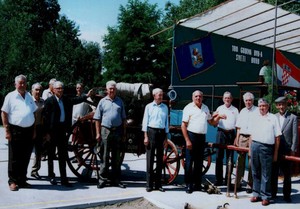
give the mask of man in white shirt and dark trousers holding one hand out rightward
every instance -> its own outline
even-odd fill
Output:
[[[194,91],[192,99],[193,102],[187,104],[183,109],[181,124],[186,142],[185,183],[188,194],[202,189],[202,165],[207,123],[216,125],[220,119],[217,114],[211,116],[208,107],[202,103],[203,93],[201,91]]]

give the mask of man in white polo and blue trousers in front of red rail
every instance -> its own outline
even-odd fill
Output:
[[[281,129],[278,119],[269,113],[266,99],[258,100],[259,114],[254,114],[250,122],[251,167],[253,177],[253,196],[251,202],[262,201],[270,204],[272,163],[277,161]]]

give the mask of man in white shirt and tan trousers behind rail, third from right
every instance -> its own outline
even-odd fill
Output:
[[[254,105],[254,95],[250,92],[246,92],[243,95],[243,100],[245,103],[245,107],[241,110],[240,114],[238,115],[236,121],[236,138],[234,141],[234,145],[237,147],[244,147],[249,148],[250,146],[250,118],[252,114],[258,114],[258,108]],[[242,178],[244,177],[245,173],[245,164],[246,164],[246,155],[245,152],[238,152],[237,157],[237,176],[236,180],[236,187],[240,187],[240,183]],[[248,183],[246,192],[252,192],[252,172],[251,172],[251,163],[250,157],[248,155]]]

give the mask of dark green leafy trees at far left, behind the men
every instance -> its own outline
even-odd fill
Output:
[[[75,22],[59,11],[57,0],[0,1],[1,97],[14,88],[18,74],[27,76],[29,86],[46,87],[53,77],[72,87],[99,80],[99,45],[81,42]]]

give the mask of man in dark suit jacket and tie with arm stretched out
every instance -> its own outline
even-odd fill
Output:
[[[53,160],[57,147],[61,185],[70,187],[71,184],[66,174],[68,145],[66,132],[71,127],[73,105],[86,101],[91,91],[81,97],[68,98],[63,95],[64,84],[60,81],[56,81],[53,84],[53,91],[54,95],[46,99],[44,106],[46,140],[50,142],[48,150],[48,176],[50,183],[56,185],[57,182],[53,172]]]

